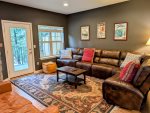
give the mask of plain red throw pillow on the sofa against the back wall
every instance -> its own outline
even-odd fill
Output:
[[[95,49],[89,49],[85,48],[82,61],[83,62],[93,62],[93,57],[94,57]]]

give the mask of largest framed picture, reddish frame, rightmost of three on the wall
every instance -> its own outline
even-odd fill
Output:
[[[114,40],[127,40],[127,30],[128,30],[128,23],[115,23],[115,36]]]

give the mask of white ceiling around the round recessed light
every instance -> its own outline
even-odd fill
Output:
[[[116,4],[128,0],[0,0],[23,6],[53,11],[62,14],[72,14],[89,9]],[[64,7],[63,3],[68,2],[69,6]]]

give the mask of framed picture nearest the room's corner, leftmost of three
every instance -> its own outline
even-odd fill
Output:
[[[81,26],[81,40],[90,40],[90,26]]]

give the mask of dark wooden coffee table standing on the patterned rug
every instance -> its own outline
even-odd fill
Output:
[[[77,85],[79,83],[78,81],[78,76],[82,75],[84,76],[83,79],[80,78],[80,81],[84,81],[84,84],[86,84],[86,75],[85,72],[87,72],[84,69],[79,69],[75,67],[70,67],[70,66],[64,66],[57,68],[57,82],[59,81],[59,72],[65,73],[66,74],[66,81],[68,81],[68,75],[72,75],[75,77],[74,84],[75,84],[75,89],[77,88]]]

